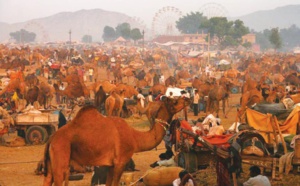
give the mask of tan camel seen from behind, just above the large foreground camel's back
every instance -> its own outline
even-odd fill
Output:
[[[120,94],[118,94],[115,90],[113,90],[105,100],[105,110],[107,112],[107,116],[118,116],[120,117],[122,107],[124,104],[124,94],[125,90],[122,90]]]

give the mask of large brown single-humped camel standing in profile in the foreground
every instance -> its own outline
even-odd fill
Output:
[[[45,147],[44,186],[53,182],[61,186],[64,180],[68,185],[71,160],[80,165],[109,166],[106,185],[118,186],[125,165],[133,154],[160,144],[173,115],[189,104],[190,100],[186,98],[167,98],[161,102],[154,127],[147,132],[131,128],[122,118],[104,117],[93,106],[83,107]]]

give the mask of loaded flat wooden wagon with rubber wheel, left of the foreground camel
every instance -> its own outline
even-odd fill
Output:
[[[44,144],[58,129],[58,111],[43,110],[18,114],[15,128],[18,136],[25,138],[27,144]]]

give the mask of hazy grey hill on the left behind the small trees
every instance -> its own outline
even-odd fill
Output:
[[[139,27],[133,18],[125,14],[102,9],[61,12],[22,23],[0,23],[0,42],[9,40],[9,33],[20,29],[36,33],[37,41],[69,41],[70,30],[72,41],[81,41],[84,35],[92,35],[93,41],[101,41],[105,26],[115,28],[124,22]]]

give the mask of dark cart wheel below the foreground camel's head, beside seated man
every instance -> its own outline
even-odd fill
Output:
[[[178,154],[178,166],[190,173],[196,172],[198,170],[197,154],[195,152],[180,152]]]

